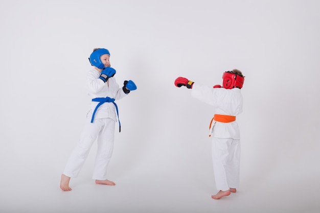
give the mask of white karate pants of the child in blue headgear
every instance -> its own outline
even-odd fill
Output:
[[[87,116],[80,140],[67,161],[63,174],[75,178],[78,176],[90,148],[98,142],[98,149],[93,173],[93,179],[106,180],[107,167],[113,151],[115,139],[115,121],[112,119],[95,119],[90,123],[91,116]]]

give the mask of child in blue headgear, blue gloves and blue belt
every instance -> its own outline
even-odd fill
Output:
[[[61,175],[62,191],[71,191],[70,178],[78,176],[96,138],[98,138],[98,150],[93,179],[97,184],[115,185],[113,181],[107,179],[107,166],[112,155],[117,116],[119,131],[121,128],[115,101],[127,96],[130,90],[135,90],[136,85],[129,80],[124,81],[123,87],[119,87],[113,77],[116,70],[110,67],[109,57],[107,49],[94,49],[89,57],[94,68],[87,74],[86,87],[92,102],[80,140]]]

